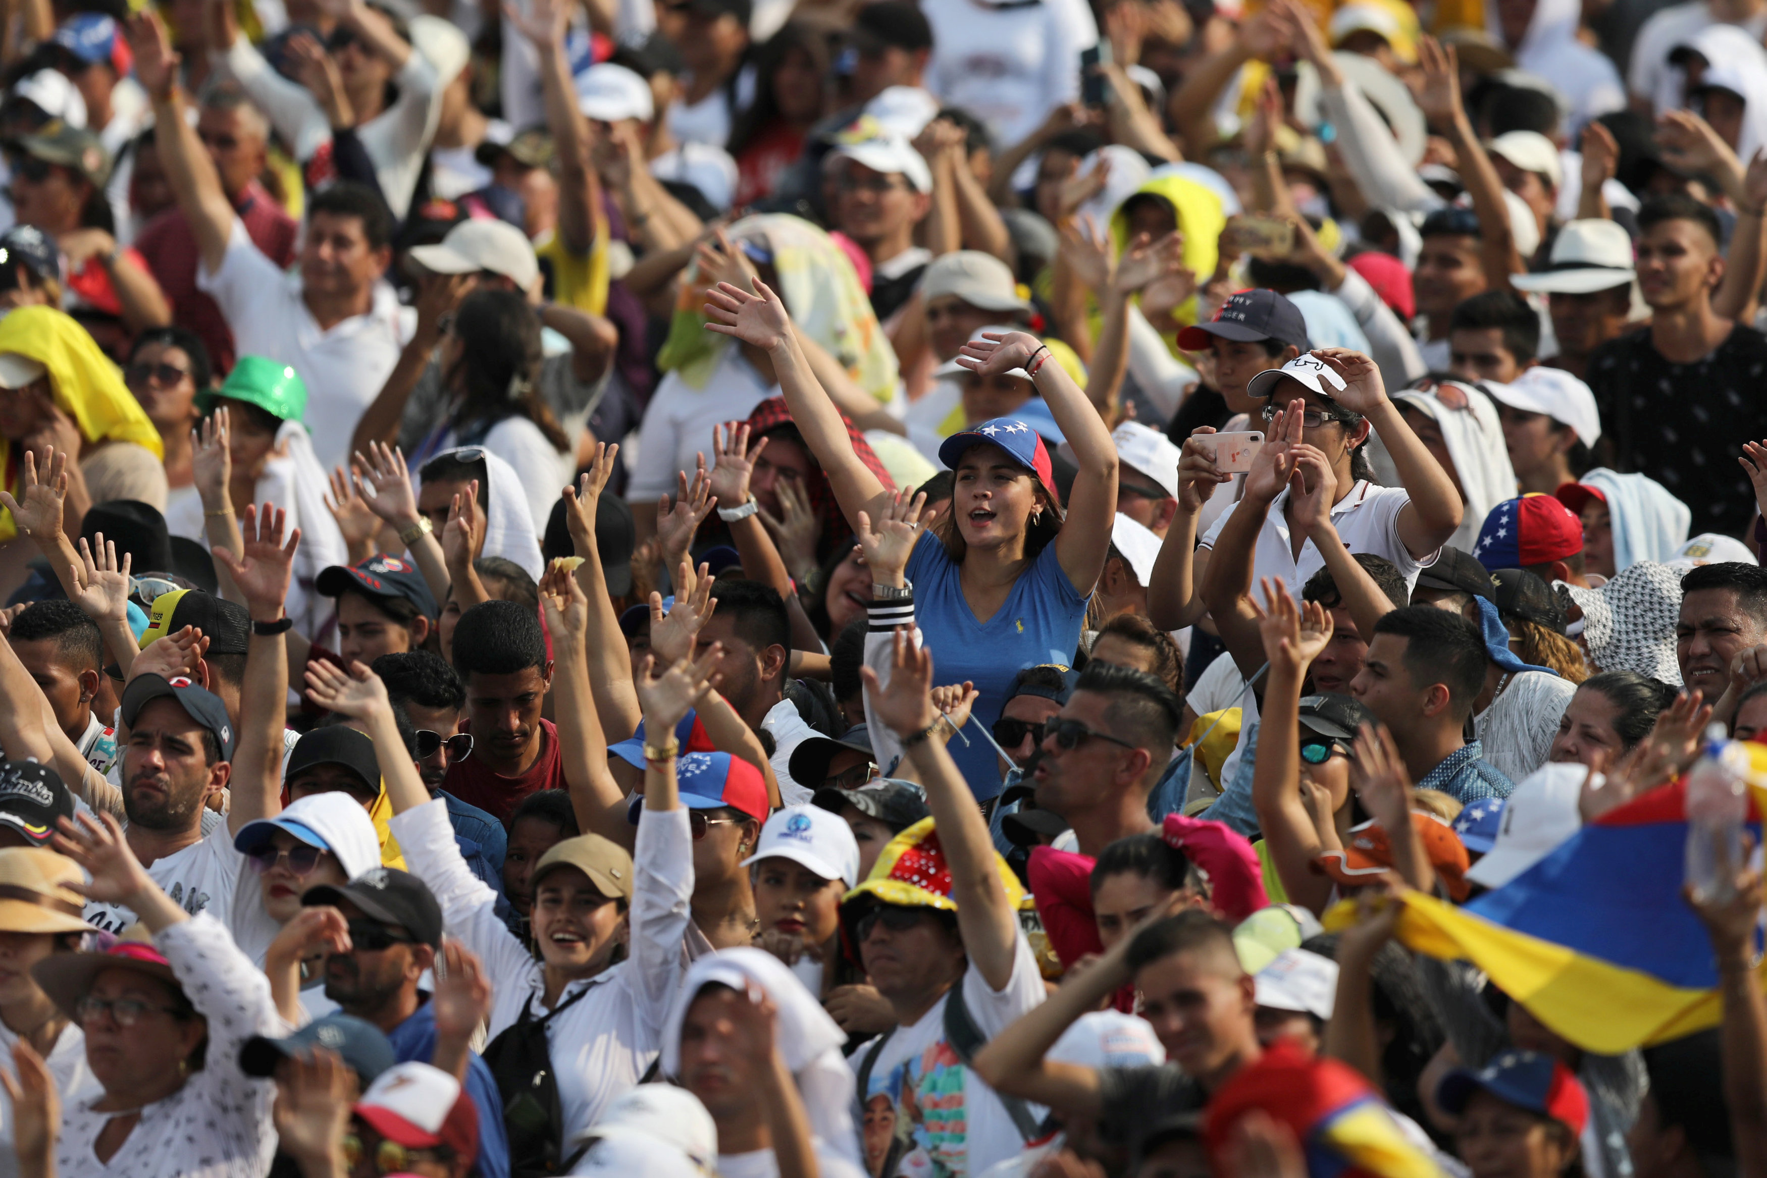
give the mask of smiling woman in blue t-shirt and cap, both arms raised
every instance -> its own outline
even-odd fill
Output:
[[[797,348],[785,304],[763,283],[755,286],[756,295],[728,283],[710,291],[707,330],[767,350],[799,433],[846,521],[861,530],[861,512],[882,519],[892,495],[853,454],[839,412]],[[914,546],[906,579],[915,622],[938,652],[940,676],[972,682],[981,692],[974,715],[991,728],[1020,668],[1073,662],[1087,600],[1110,551],[1117,449],[1087,394],[1060,364],[1048,362],[1050,350],[1035,336],[984,332],[984,339],[963,344],[958,360],[975,373],[1032,381],[1080,464],[1064,510],[1050,452],[1021,420],[982,422],[938,449],[940,461],[956,472],[956,486],[933,533]],[[1000,793],[1000,765],[981,733],[965,731],[951,751],[979,800]]]

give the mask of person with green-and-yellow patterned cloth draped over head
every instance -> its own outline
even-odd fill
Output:
[[[827,233],[800,217],[767,214],[737,221],[726,237],[733,253],[785,302],[800,339],[832,357],[852,385],[878,406],[896,396],[896,353],[859,286],[853,263]],[[712,427],[747,417],[762,401],[779,396],[772,360],[763,350],[705,330],[701,307],[716,281],[700,263],[687,270],[668,341],[657,355],[664,376],[645,408],[640,431],[645,445],[626,489],[640,535],[647,532],[657,498],[675,493],[675,473],[694,470]],[[739,507],[719,503],[724,510]]]

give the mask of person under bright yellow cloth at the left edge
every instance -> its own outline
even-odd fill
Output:
[[[76,532],[92,503],[136,500],[166,510],[166,447],[117,366],[92,336],[55,307],[18,307],[0,320],[0,487],[23,495],[25,452],[46,470],[49,447],[69,449],[78,433],[78,463],[67,468],[67,530]],[[0,509],[0,542],[18,535],[12,512]]]

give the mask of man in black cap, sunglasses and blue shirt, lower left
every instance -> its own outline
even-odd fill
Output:
[[[325,996],[345,1014],[378,1026],[399,1063],[429,1063],[436,1049],[436,1016],[429,993],[417,987],[442,957],[442,906],[429,887],[406,871],[375,867],[341,888],[307,888],[300,904],[327,910],[322,917],[327,925],[343,924],[350,933],[350,948],[334,947],[325,957]],[[504,1102],[497,1077],[477,1051],[466,1053],[461,1086],[479,1109],[474,1173],[509,1178]]]

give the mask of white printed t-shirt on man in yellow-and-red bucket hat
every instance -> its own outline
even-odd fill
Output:
[[[965,971],[961,985],[963,1003],[986,1038],[1044,1000],[1043,977],[1023,933],[1012,957],[1012,977],[1000,993],[990,989],[977,970]],[[899,1160],[891,1173],[903,1178],[935,1173],[968,1178],[1025,1148],[1000,1097],[959,1063],[945,1042],[949,998],[945,994],[933,1003],[914,1026],[898,1026],[891,1033],[871,1065],[866,1091],[859,1093],[866,1120],[894,1118],[898,1144],[892,1152]],[[848,1056],[855,1074],[871,1047],[866,1044]],[[1043,1120],[1041,1107],[1032,1106],[1030,1113]]]

